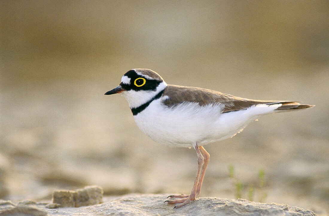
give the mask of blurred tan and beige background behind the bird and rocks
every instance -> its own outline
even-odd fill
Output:
[[[240,182],[244,199],[252,186],[254,201],[328,214],[328,8],[1,1],[0,199],[51,199],[54,189],[94,184],[106,195],[190,193],[195,151],[153,142],[125,98],[104,95],[126,71],[149,68],[168,84],[316,105],[265,116],[206,146],[201,196],[236,198]]]

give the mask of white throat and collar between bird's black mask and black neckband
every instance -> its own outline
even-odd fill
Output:
[[[130,108],[136,108],[136,107],[139,107],[140,105],[148,102],[151,98],[153,98],[159,92],[164,90],[166,87],[167,87],[167,84],[165,82],[162,82],[159,84],[159,86],[157,87],[157,89],[155,91],[129,90],[129,91],[123,91],[122,95],[127,99]]]

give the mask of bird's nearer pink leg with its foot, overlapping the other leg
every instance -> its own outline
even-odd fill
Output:
[[[194,185],[193,185],[191,194],[189,196],[187,196],[187,197],[184,196],[183,199],[179,199],[179,200],[166,200],[166,201],[164,201],[164,202],[168,202],[169,204],[172,204],[172,203],[180,203],[179,205],[176,205],[174,208],[179,208],[179,207],[181,207],[181,206],[189,203],[191,200],[195,200],[195,198],[196,198],[196,190],[198,188],[198,183],[199,183],[199,178],[200,178],[201,170],[202,170],[203,163],[204,163],[204,158],[203,158],[203,156],[201,154],[200,148],[198,148],[196,146],[195,147],[195,150],[196,150],[196,155],[198,157],[198,171],[196,172],[196,175],[195,175]],[[173,197],[173,196],[171,196],[171,197]]]

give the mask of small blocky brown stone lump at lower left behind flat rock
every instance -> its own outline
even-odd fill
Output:
[[[77,191],[54,191],[52,201],[61,207],[95,205],[103,203],[103,189],[98,186],[87,186]]]

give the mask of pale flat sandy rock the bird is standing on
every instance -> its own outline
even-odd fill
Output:
[[[36,203],[39,210],[49,215],[290,215],[315,216],[313,211],[277,203],[257,203],[247,200],[229,200],[215,197],[198,198],[174,209],[174,204],[164,203],[168,195],[130,194],[121,197],[104,197],[105,203],[79,208],[46,208]],[[11,204],[8,206],[12,207]],[[1,210],[5,207],[0,205]]]

